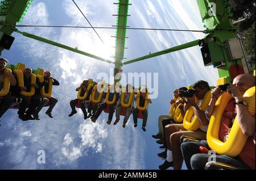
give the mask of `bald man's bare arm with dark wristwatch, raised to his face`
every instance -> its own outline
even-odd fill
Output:
[[[233,98],[236,99],[236,102],[243,101],[243,97],[235,85],[230,84],[227,88],[227,91],[233,96]],[[242,104],[237,104],[236,108],[237,121],[240,125],[240,128],[242,129],[243,134],[246,136],[253,136],[255,133],[255,114],[252,116],[249,113],[247,106],[243,106]]]

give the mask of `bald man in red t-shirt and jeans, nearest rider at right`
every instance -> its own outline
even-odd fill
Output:
[[[233,84],[230,84],[226,89],[226,91],[233,96],[233,99],[229,101],[228,106],[226,106],[224,110],[224,115],[222,116],[219,132],[220,140],[225,142],[229,135],[229,128],[236,116],[243,134],[248,136],[248,139],[237,157],[232,158],[227,155],[216,155],[217,162],[243,167],[245,169],[255,169],[255,144],[253,141],[255,136],[255,115],[250,115],[246,103],[243,100],[245,91],[254,86],[254,75],[242,74],[234,78]],[[216,103],[223,92],[224,91],[221,91],[218,87],[214,89],[210,103]],[[210,112],[213,112],[213,109],[210,110]],[[233,120],[230,119],[230,117],[233,117]],[[210,155],[200,153],[199,146],[204,146],[210,150],[207,141],[185,142],[181,144],[182,154],[189,170],[203,170],[205,164],[208,162]]]

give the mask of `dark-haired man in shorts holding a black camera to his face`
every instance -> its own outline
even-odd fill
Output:
[[[167,141],[167,150],[161,155],[164,155],[162,158],[166,157],[166,161],[163,165],[159,166],[159,169],[165,170],[168,167],[173,166],[175,170],[180,170],[183,163],[183,156],[180,149],[180,137],[182,135],[199,138],[203,140],[206,138],[206,132],[209,124],[209,120],[205,115],[204,111],[200,110],[200,104],[203,101],[204,95],[210,90],[208,82],[197,81],[192,86],[193,90],[188,90],[181,93],[181,95],[186,96],[185,102],[192,106],[194,110],[194,116],[197,116],[197,119],[201,122],[201,125],[197,131],[186,131],[183,127],[183,124],[170,124],[165,127],[165,136]],[[199,100],[198,103],[195,102],[195,96]]]

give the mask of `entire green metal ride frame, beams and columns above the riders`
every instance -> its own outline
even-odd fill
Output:
[[[0,6],[0,38],[3,33],[11,35],[14,31],[22,34],[23,36],[30,37],[35,40],[42,41],[51,45],[55,45],[60,48],[71,50],[76,53],[84,54],[97,60],[108,62],[109,64],[115,64],[116,69],[121,69],[123,65],[131,64],[133,62],[146,60],[148,58],[160,56],[162,54],[175,52],[177,50],[197,46],[200,40],[191,41],[182,45],[178,45],[173,48],[166,50],[161,50],[156,53],[147,54],[134,60],[122,62],[125,54],[125,39],[126,39],[126,27],[127,27],[127,16],[129,11],[129,0],[118,0],[118,14],[117,14],[117,31],[115,36],[115,62],[106,60],[93,54],[82,52],[76,48],[68,47],[63,44],[56,43],[51,40],[44,39],[36,35],[32,35],[27,32],[20,32],[15,28],[16,22],[20,22],[24,16],[24,12],[27,11],[28,6],[32,0],[6,0],[1,1]],[[225,62],[225,65],[218,68],[218,73],[220,77],[230,77],[229,68],[233,65],[241,65],[241,60],[229,60],[227,54],[226,41],[228,39],[233,39],[237,36],[237,27],[233,26],[230,17],[232,17],[231,8],[228,3],[229,0],[197,0],[197,5],[199,6],[201,18],[204,23],[205,37],[202,40],[205,41],[210,50],[210,55],[213,59],[213,66],[217,66],[218,63]],[[216,6],[212,6],[214,5]],[[216,7],[216,11],[214,10]],[[2,48],[0,48],[0,53]]]

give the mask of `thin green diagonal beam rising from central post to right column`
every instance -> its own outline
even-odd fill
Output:
[[[189,48],[189,47],[195,47],[195,46],[198,46],[199,41],[200,40],[191,41],[189,43],[185,43],[185,44],[182,44],[182,45],[178,45],[176,47],[165,49],[165,50],[162,50],[160,52],[155,52],[155,53],[143,56],[143,57],[135,58],[133,60],[124,62],[123,65],[131,64],[131,63],[138,62],[138,61],[142,61],[142,60],[152,58],[152,57],[157,57],[157,56],[160,56],[160,55],[166,54],[166,53],[176,52],[177,50],[181,50],[181,49],[185,49],[185,48]]]

